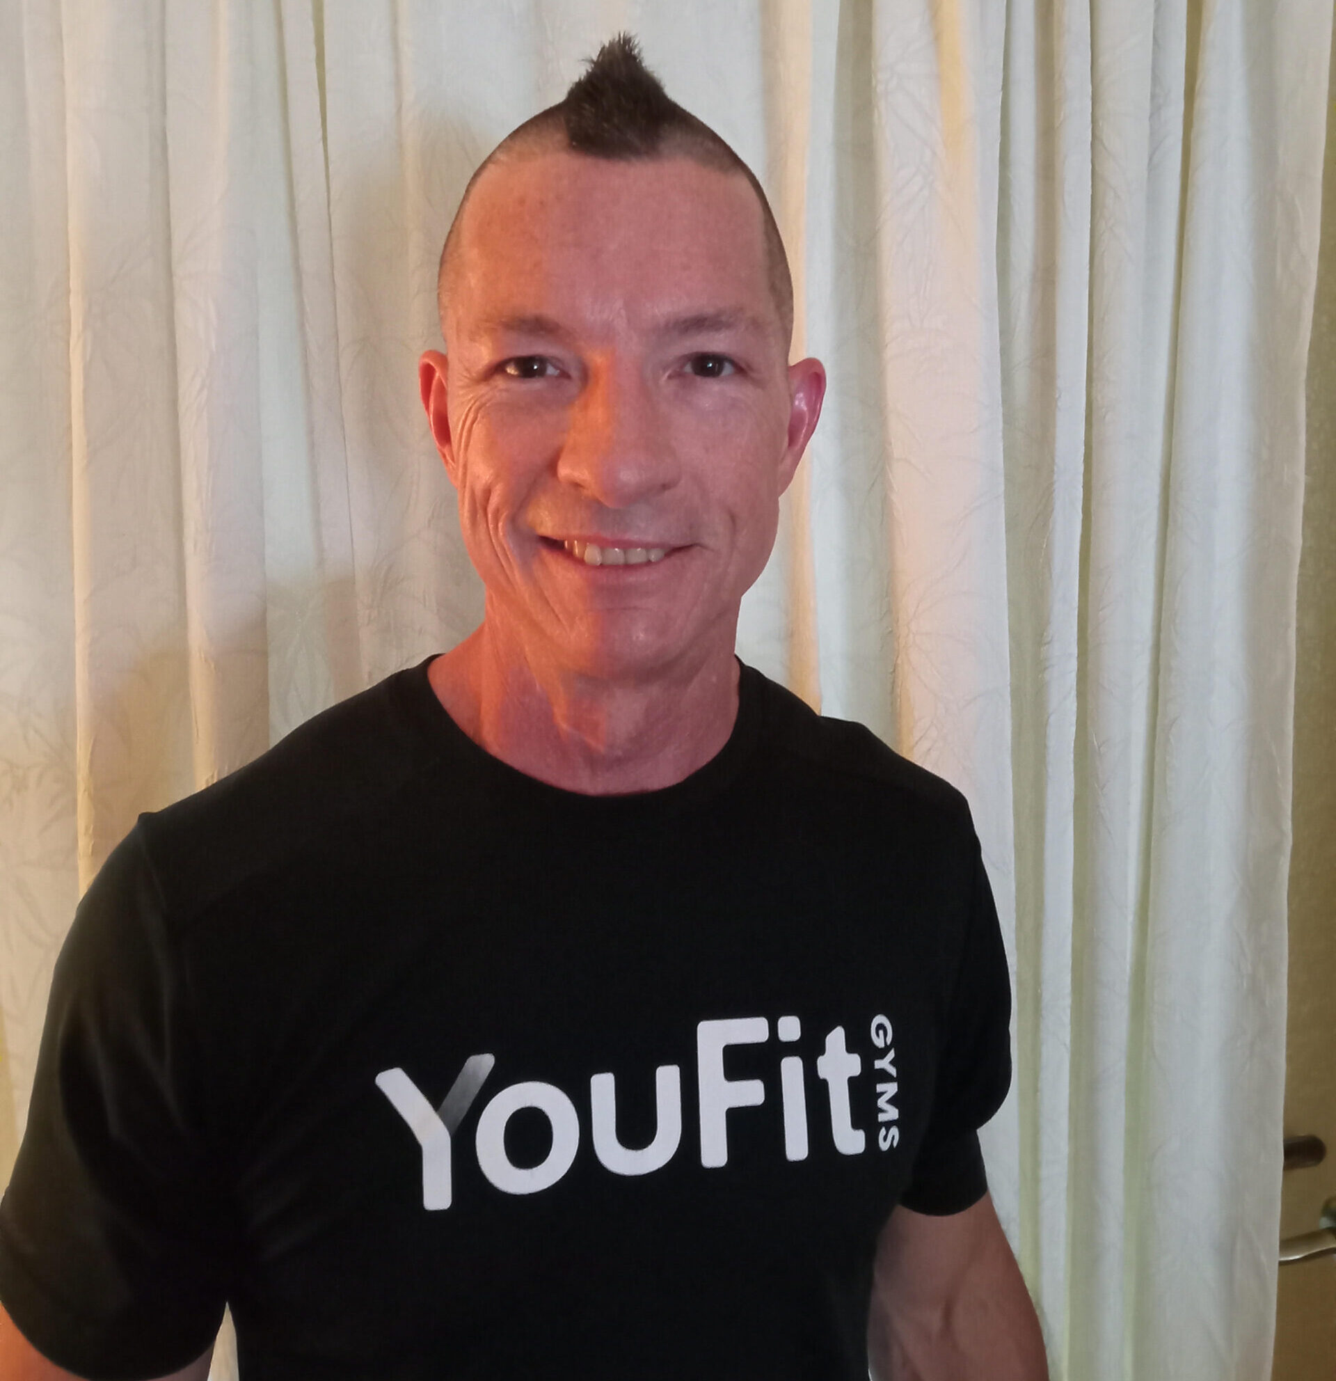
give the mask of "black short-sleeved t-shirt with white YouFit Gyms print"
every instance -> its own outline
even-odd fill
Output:
[[[562,791],[426,664],[138,824],[57,965],[0,1300],[91,1378],[857,1377],[878,1230],[984,1192],[1010,996],[963,798],[744,668]]]

